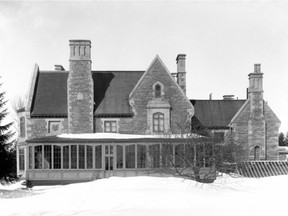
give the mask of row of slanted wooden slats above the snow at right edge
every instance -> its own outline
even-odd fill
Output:
[[[287,161],[245,161],[237,164],[238,173],[249,178],[288,175]]]

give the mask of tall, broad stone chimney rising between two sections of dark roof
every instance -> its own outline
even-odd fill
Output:
[[[93,133],[93,79],[90,40],[70,40],[67,80],[68,131]]]

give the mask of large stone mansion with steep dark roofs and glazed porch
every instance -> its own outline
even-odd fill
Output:
[[[246,99],[193,100],[185,60],[177,56],[176,73],[159,56],[146,71],[92,70],[91,42],[70,40],[69,70],[35,65],[18,110],[18,175],[39,184],[145,175],[159,166],[160,153],[147,149],[161,151],[161,134],[175,136],[177,154],[176,135],[199,128],[223,142],[233,132],[242,160],[277,160],[280,121],[263,99],[260,65],[249,74]]]

